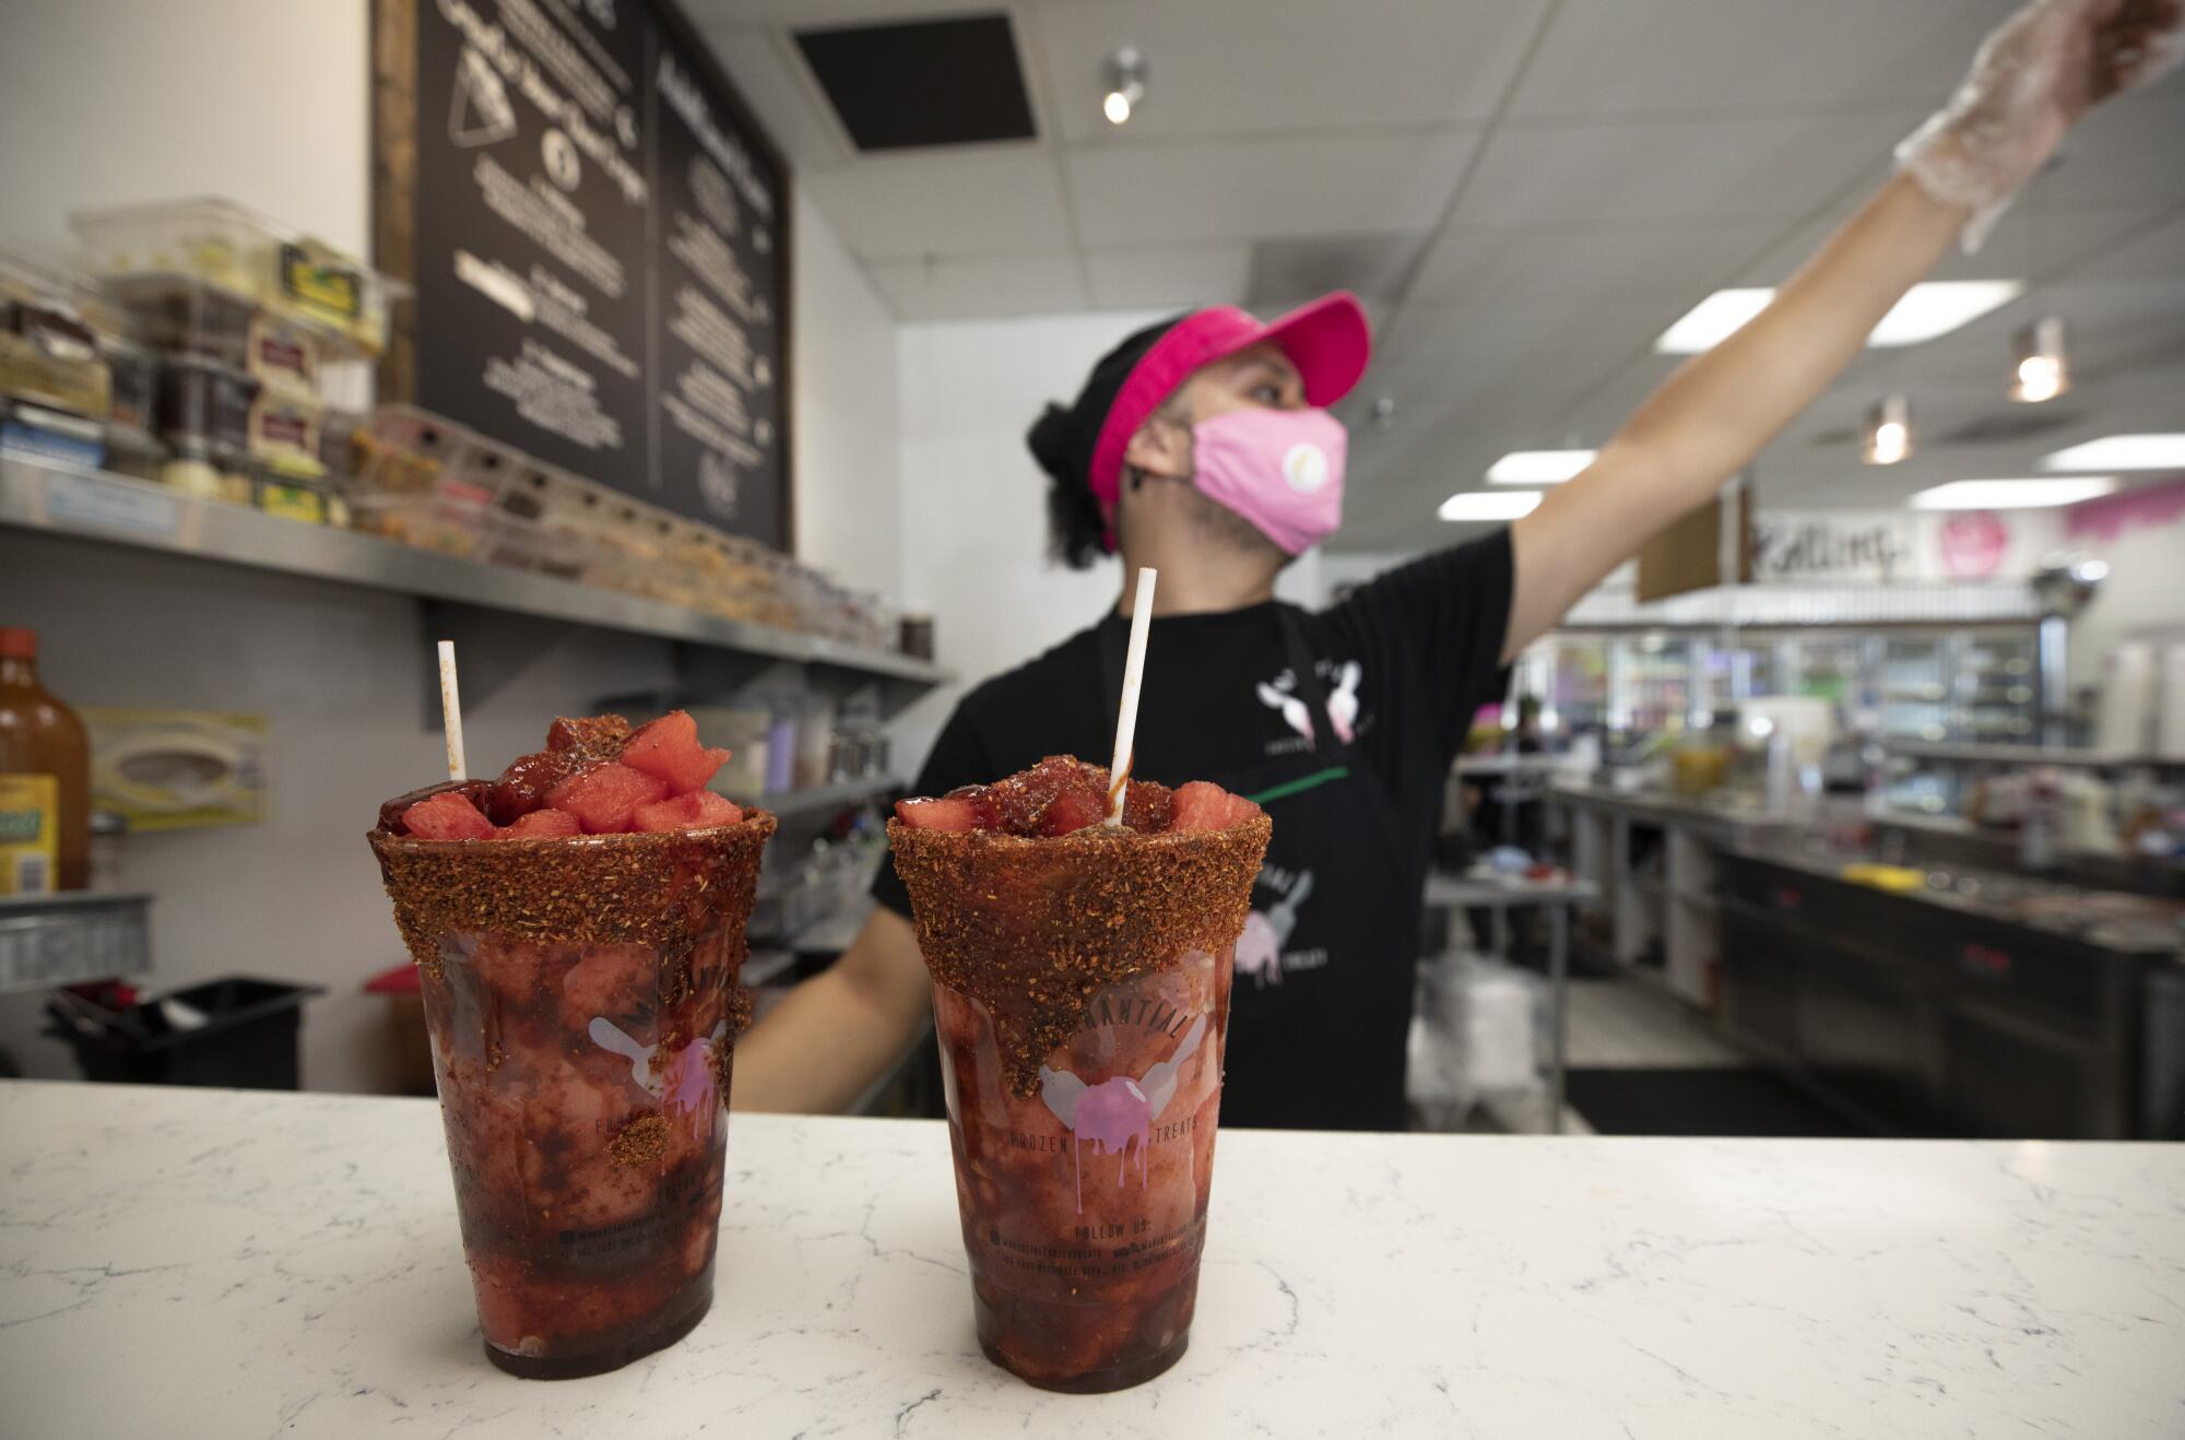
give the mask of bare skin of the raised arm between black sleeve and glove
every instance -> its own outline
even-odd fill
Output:
[[[1584,474],[1512,527],[1516,590],[1505,658],[1672,520],[1709,500],[1842,374],[1964,225],[1962,205],[1897,177],[1774,302],[1687,361]]]

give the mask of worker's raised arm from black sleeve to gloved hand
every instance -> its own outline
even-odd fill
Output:
[[[1901,173],[1765,310],[1685,363],[1593,465],[1510,527],[1503,660],[1811,404],[1951,238],[1977,243],[2093,103],[2176,59],[2178,0],[2034,0],[1991,35],[1949,107],[1899,146]]]

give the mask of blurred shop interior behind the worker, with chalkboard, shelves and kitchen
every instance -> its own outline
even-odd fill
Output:
[[[966,682],[1114,599],[1023,452],[1086,356],[1366,299],[1322,603],[1582,468],[2012,9],[601,7],[0,17],[0,710],[35,666],[90,795],[0,889],[92,885],[0,900],[0,1064],[428,1093],[363,830],[435,638],[481,767],[686,704],[782,815],[747,979],[826,966]],[[2185,85],[2095,114],[1519,660],[1418,1125],[2185,1136],[2178,135]],[[931,1103],[916,1051],[867,1097]]]

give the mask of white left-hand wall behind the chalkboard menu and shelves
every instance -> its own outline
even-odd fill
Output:
[[[365,0],[7,0],[0,9],[0,243],[68,249],[70,210],[225,194],[369,251]],[[832,227],[798,197],[800,553],[894,590],[900,546],[894,323]],[[380,1007],[358,983],[402,959],[363,843],[378,802],[441,765],[424,723],[415,601],[306,579],[0,531],[0,621],[42,632],[46,677],[85,706],[271,717],[273,817],[127,841],[157,894],[160,983],[260,972],[326,985],[304,1082],[382,1082]],[[546,721],[669,680],[658,640],[509,621],[522,669],[465,688],[479,769],[535,749]],[[0,1047],[39,1075],[35,996],[0,996]]]

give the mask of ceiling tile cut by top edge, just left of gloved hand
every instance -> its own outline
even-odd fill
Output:
[[[1567,0],[1512,116],[1940,105],[2017,0]]]

